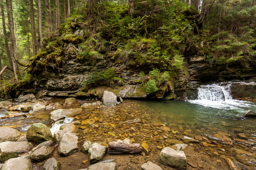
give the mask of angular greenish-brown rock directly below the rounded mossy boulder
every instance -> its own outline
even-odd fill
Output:
[[[30,159],[36,162],[47,159],[53,150],[54,148],[51,146],[42,146],[30,154]]]

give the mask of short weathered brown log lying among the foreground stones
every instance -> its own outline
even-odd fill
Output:
[[[109,142],[108,154],[139,154],[142,146],[139,143]]]

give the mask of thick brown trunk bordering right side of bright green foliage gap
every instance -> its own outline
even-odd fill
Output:
[[[36,54],[37,51],[37,46],[38,46],[38,41],[36,40],[36,29],[35,29],[35,12],[34,12],[34,5],[33,5],[33,0],[30,0],[30,20],[31,20],[31,35],[32,35],[32,41],[33,41],[33,55]]]

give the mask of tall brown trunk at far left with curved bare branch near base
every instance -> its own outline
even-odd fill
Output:
[[[16,58],[16,40],[15,40],[14,24],[13,24],[13,5],[11,0],[6,0],[6,7],[7,7],[8,25],[9,25],[10,40],[11,40],[11,59],[13,61],[14,77],[15,77],[15,80],[18,82],[20,78],[20,73],[19,73],[19,67],[18,67],[17,58]]]

